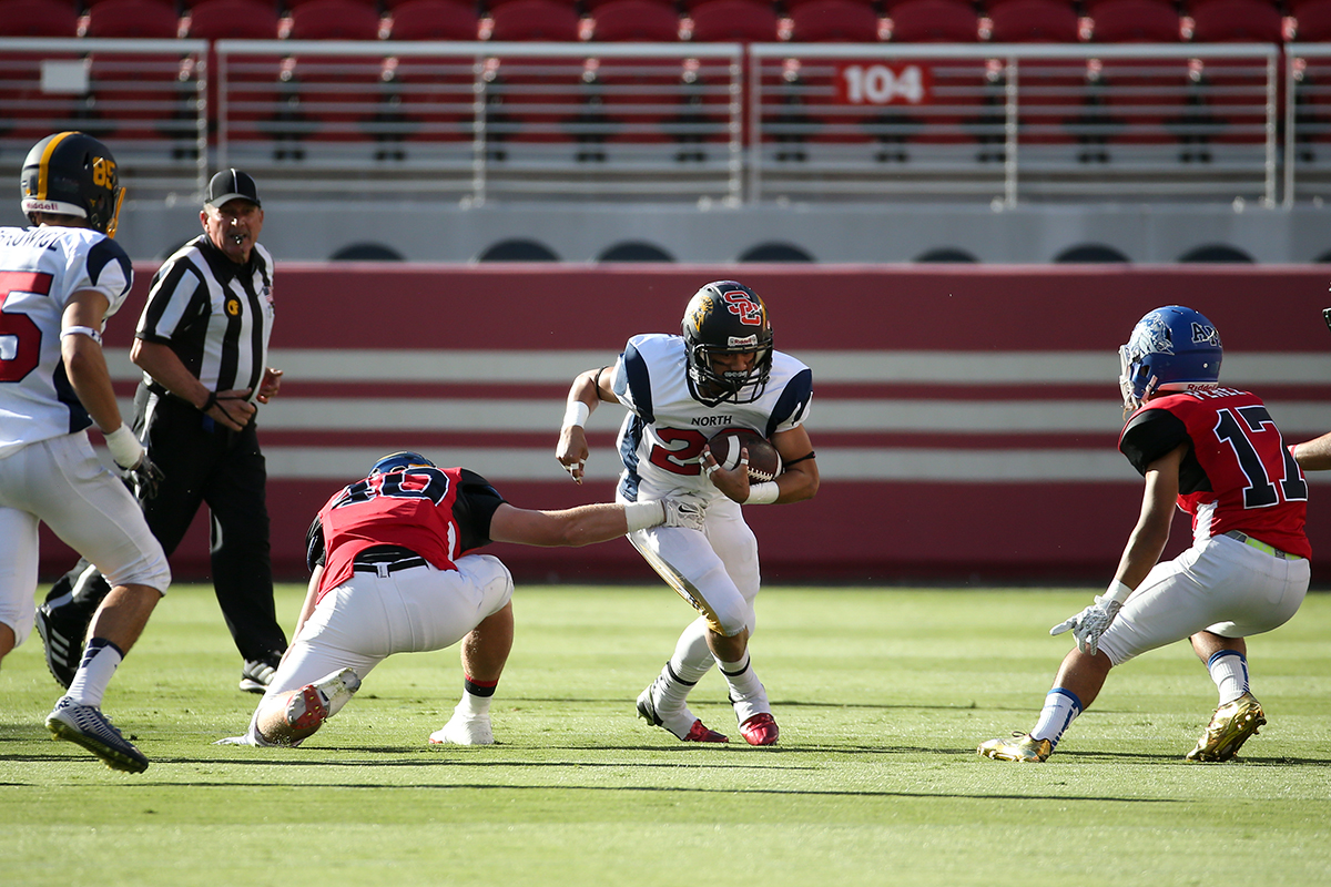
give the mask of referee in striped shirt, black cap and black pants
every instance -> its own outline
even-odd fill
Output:
[[[156,495],[140,489],[138,499],[168,556],[208,504],[213,586],[245,660],[240,689],[262,693],[286,636],[273,604],[268,472],[254,403],[278,392],[282,372],[268,366],[273,257],[258,243],[264,206],[254,180],[236,169],[213,176],[200,222],[204,234],[153,277],[129,352],[144,371],[133,430],[165,475]],[[80,568],[37,612],[47,664],[63,684],[79,666],[84,614],[105,588],[96,568]]]

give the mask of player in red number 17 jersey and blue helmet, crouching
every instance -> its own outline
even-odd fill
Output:
[[[1262,400],[1219,387],[1221,336],[1197,311],[1151,311],[1119,358],[1131,415],[1118,448],[1146,479],[1141,517],[1105,594],[1050,629],[1071,630],[1077,646],[1036,726],[981,743],[984,757],[1047,759],[1111,668],[1183,638],[1219,692],[1185,758],[1229,761],[1266,723],[1248,689],[1244,638],[1283,625],[1308,590],[1303,473]],[[1193,517],[1193,547],[1157,563],[1175,503]]]

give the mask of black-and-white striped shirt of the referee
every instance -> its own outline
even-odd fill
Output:
[[[237,265],[201,234],[153,275],[134,335],[170,347],[209,391],[252,388],[253,400],[272,331],[273,257],[256,243]],[[165,394],[146,372],[144,384]]]

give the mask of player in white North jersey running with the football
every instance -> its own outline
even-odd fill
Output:
[[[666,584],[701,614],[638,697],[638,714],[684,742],[728,742],[687,703],[689,690],[716,664],[745,742],[772,745],[777,725],[749,664],[760,576],[757,540],[741,505],[796,503],[817,493],[817,463],[803,424],[813,374],[772,348],[763,299],[735,281],[700,289],[684,310],[681,332],[636,335],[614,366],[574,379],[555,456],[582,483],[588,455],[583,424],[599,402],[618,402],[628,408],[619,432],[619,501],[707,497],[701,531],[655,527],[628,535]],[[707,442],[728,427],[769,439],[785,471],[751,483],[747,464],[729,471],[717,465]]]

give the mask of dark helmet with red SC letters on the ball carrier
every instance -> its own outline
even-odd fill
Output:
[[[735,281],[705,285],[684,309],[680,323],[688,356],[688,390],[696,400],[716,406],[753,403],[772,374],[772,323],[757,293]],[[748,370],[717,370],[720,354],[755,355]]]

